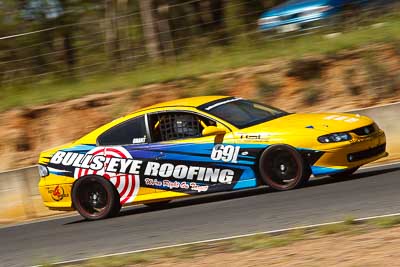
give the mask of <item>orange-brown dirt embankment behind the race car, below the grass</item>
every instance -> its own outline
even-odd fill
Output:
[[[399,77],[400,48],[374,45],[14,109],[0,114],[0,170],[34,164],[41,150],[165,100],[224,94],[288,111],[343,111],[399,101]]]

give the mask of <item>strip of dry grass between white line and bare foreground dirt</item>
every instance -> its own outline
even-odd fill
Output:
[[[358,221],[347,217],[341,223],[328,224],[311,228],[299,228],[275,234],[257,234],[248,237],[234,238],[230,240],[205,242],[173,248],[158,249],[147,252],[125,254],[121,256],[103,257],[82,261],[63,266],[110,266],[125,267],[133,265],[152,265],[160,262],[179,262],[187,259],[196,259],[207,255],[222,253],[241,253],[244,251],[266,250],[276,247],[285,247],[299,241],[310,241],[325,238],[332,235],[360,235],[384,228],[400,225],[400,216]],[[43,266],[55,266],[43,264]]]

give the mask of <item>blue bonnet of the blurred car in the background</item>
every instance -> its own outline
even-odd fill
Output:
[[[295,0],[285,2],[265,12],[261,17],[280,16],[301,12],[304,9],[316,6],[328,5],[329,0]]]

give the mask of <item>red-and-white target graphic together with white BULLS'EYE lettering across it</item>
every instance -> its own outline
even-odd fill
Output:
[[[132,202],[139,191],[142,161],[132,159],[123,147],[96,147],[86,154],[59,151],[50,162],[75,167],[76,179],[87,175],[108,179],[117,189],[121,204]]]

